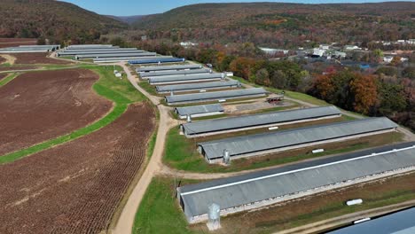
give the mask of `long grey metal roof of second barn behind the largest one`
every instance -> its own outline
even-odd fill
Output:
[[[340,114],[341,111],[335,106],[323,106],[283,112],[257,113],[209,121],[188,122],[182,125],[186,134],[197,135],[215,131],[316,119]]]

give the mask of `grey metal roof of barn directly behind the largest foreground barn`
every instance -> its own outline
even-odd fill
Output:
[[[315,143],[394,128],[397,128],[395,122],[390,121],[386,117],[368,118],[357,121],[316,125],[301,129],[288,129],[250,136],[231,137],[217,141],[203,142],[199,145],[203,148],[207,159],[217,159],[223,157],[223,150],[228,150],[231,156],[236,156],[250,152],[262,152],[297,144]]]

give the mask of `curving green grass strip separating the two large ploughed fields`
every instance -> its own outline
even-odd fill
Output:
[[[35,144],[18,152],[12,152],[3,155],[0,157],[0,164],[19,160],[22,157],[33,154],[35,152],[43,151],[57,144],[63,144],[78,137],[88,135],[91,132],[101,129],[111,122],[115,121],[118,117],[121,116],[122,113],[127,110],[129,104],[145,100],[145,96],[134,89],[134,87],[129,83],[127,79],[115,79],[112,68],[108,69],[104,66],[82,67],[89,68],[90,70],[99,74],[99,80],[93,85],[93,90],[95,90],[98,95],[113,101],[113,110],[102,119],[95,121],[94,123],[82,129],[74,130],[67,135],[59,136],[57,138],[45,141],[41,144]],[[121,70],[121,66],[117,68]]]

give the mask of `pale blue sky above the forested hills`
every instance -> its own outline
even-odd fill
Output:
[[[303,3],[303,4],[325,4],[325,3],[374,3],[388,2],[388,0],[62,0],[64,2],[77,4],[92,12],[107,15],[129,16],[145,15],[167,12],[170,9],[187,4],[200,3],[241,3],[241,2],[276,2],[276,3]]]

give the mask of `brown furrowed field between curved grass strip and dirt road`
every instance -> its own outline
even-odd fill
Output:
[[[103,233],[154,125],[151,105],[130,105],[97,132],[1,165],[0,233]]]

